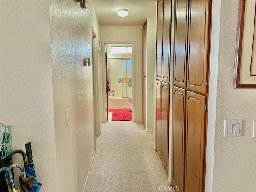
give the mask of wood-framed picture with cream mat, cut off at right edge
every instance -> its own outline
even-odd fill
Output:
[[[255,0],[239,0],[234,88],[256,88],[255,13]]]

